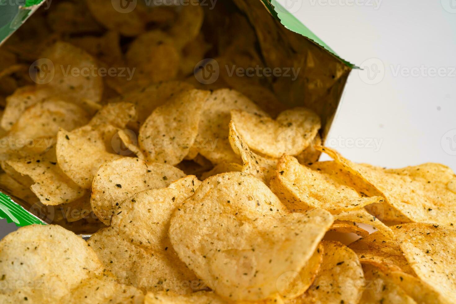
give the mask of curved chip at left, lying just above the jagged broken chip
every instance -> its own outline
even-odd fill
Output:
[[[21,117],[3,137],[8,145],[0,149],[2,158],[31,155],[46,151],[54,144],[59,128],[73,130],[88,121],[88,114],[73,103],[44,101],[36,103]],[[17,150],[21,150],[17,152]]]

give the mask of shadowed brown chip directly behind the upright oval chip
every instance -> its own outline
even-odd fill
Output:
[[[138,121],[132,123],[132,126],[138,130],[155,108],[165,104],[173,96],[192,88],[193,86],[187,82],[162,82],[145,88],[136,88],[136,90],[126,92],[121,97],[109,100],[109,102],[128,101],[133,103],[138,113]]]

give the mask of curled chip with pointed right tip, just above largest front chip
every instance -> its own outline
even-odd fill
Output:
[[[274,193],[293,210],[323,208],[337,214],[383,201],[381,196],[363,197],[337,175],[312,170],[288,155],[280,158],[270,184]]]

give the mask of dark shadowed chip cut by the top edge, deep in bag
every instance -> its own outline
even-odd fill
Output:
[[[87,0],[88,9],[93,18],[112,31],[119,31],[124,36],[136,36],[145,30],[145,22],[140,18],[135,3],[123,7],[105,0]]]

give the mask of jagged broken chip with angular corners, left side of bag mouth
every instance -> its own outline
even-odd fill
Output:
[[[60,205],[82,197],[85,190],[70,180],[57,164],[56,150],[30,157],[6,161],[14,170],[33,180],[31,191],[44,205]]]

